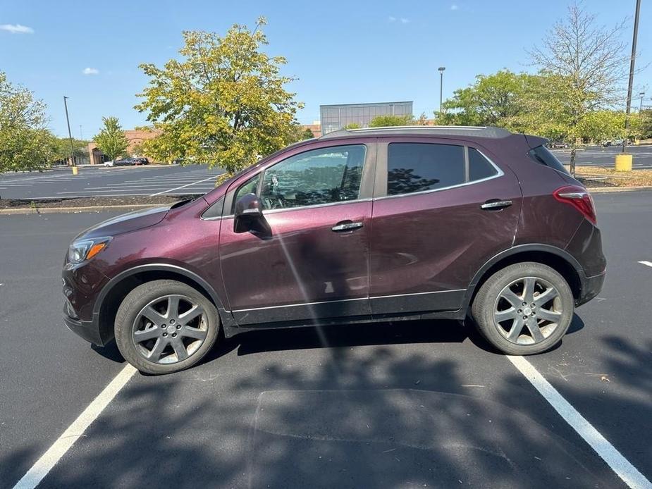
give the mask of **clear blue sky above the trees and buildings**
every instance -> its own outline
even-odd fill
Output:
[[[532,70],[526,49],[538,43],[570,0],[543,1],[0,1],[0,70],[44,99],[57,135],[67,135],[63,95],[70,97],[74,137],[89,139],[102,116],[124,128],[146,123],[133,109],[147,85],[138,64],[161,65],[176,56],[182,30],[226,32],[266,16],[267,51],[288,59],[285,74],[305,102],[300,123],[319,119],[320,104],[414,101],[414,114],[439,105],[438,66],[445,66],[444,98],[478,73]],[[635,0],[586,0],[598,21],[613,25]],[[640,66],[652,61],[652,8],[643,2]],[[90,69],[87,69],[90,68]],[[634,80],[647,85],[652,68]],[[636,99],[637,101],[638,99]]]

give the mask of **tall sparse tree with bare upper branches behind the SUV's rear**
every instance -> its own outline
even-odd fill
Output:
[[[573,174],[576,140],[586,131],[589,113],[622,101],[622,81],[629,63],[620,38],[623,26],[596,25],[595,16],[573,4],[567,17],[555,23],[541,46],[530,52],[548,83],[539,87],[539,94],[547,98],[537,98],[532,109],[543,116],[543,123],[550,121],[548,116],[555,116],[556,130],[570,139]]]

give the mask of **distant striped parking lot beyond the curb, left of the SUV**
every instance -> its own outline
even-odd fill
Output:
[[[81,167],[75,176],[69,168],[44,173],[0,175],[4,199],[61,199],[125,195],[203,194],[215,186],[218,169],[205,166]]]

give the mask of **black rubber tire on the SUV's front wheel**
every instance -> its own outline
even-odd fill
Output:
[[[161,299],[168,295],[183,296],[184,298],[190,299],[187,301],[188,303],[196,304],[203,309],[204,314],[195,321],[201,322],[202,333],[205,332],[205,338],[195,351],[188,353],[189,356],[187,358],[174,361],[174,363],[170,364],[161,364],[156,363],[155,361],[150,361],[144,356],[142,348],[137,347],[136,345],[133,333],[134,330],[137,329],[137,318],[142,317],[140,314],[141,311],[148,304],[156,301],[156,299]],[[186,303],[186,300],[182,299],[182,302]],[[181,321],[177,321],[175,326],[181,327],[180,323]],[[154,326],[152,323],[151,328],[160,329],[160,326],[161,325]],[[166,326],[170,325],[166,324]],[[175,326],[170,326],[169,331],[175,332]],[[151,282],[135,287],[134,290],[128,293],[127,297],[125,297],[118,308],[114,328],[116,334],[116,345],[118,345],[118,349],[123,357],[125,357],[125,360],[143,373],[160,375],[164,373],[178,372],[197,364],[197,362],[200,361],[215,344],[219,333],[219,326],[219,314],[216,307],[201,292],[190,287],[190,285],[177,282],[176,280],[152,280]],[[163,330],[161,330],[161,334],[162,332]],[[172,333],[170,333],[170,335],[172,335]],[[176,332],[174,333],[174,336],[176,337]],[[180,340],[181,338],[177,339]],[[170,340],[170,338],[167,338],[167,340]],[[152,342],[156,341],[156,339],[152,340]],[[192,339],[190,339],[190,341],[192,341]]]

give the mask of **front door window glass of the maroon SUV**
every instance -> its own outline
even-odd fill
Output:
[[[359,196],[364,144],[313,149],[267,168],[261,201],[264,209],[332,204]]]

